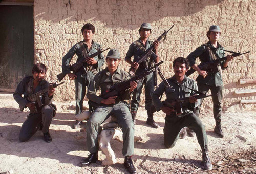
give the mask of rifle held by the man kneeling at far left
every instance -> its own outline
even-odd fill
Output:
[[[56,84],[56,83],[51,83],[51,84],[53,85],[54,88],[56,88],[58,85],[63,84],[63,83],[64,83],[64,82],[61,82],[61,83],[59,83],[59,84]],[[35,103],[36,109],[37,109],[37,110],[40,110],[40,107],[42,106],[42,102],[41,102],[40,96],[41,96],[41,95],[44,95],[47,91],[48,91],[48,88],[42,89],[42,90],[38,91],[37,93],[35,93],[35,94],[31,95],[31,96],[28,96],[28,97],[25,98],[25,99],[26,99],[27,101],[29,101],[29,102]],[[26,108],[26,106],[23,107],[23,106],[19,105],[20,111],[23,111],[24,108]]]

